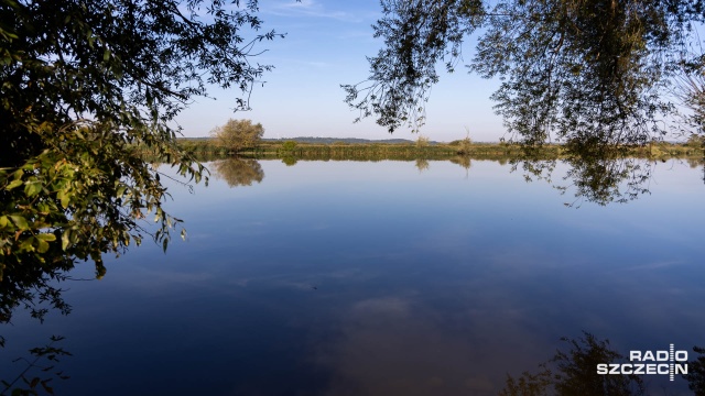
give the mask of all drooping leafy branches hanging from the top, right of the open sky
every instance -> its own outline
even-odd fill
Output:
[[[382,0],[364,82],[343,86],[360,117],[390,132],[423,123],[424,103],[471,33],[471,73],[499,77],[496,110],[516,141],[639,144],[666,132],[674,76],[702,75],[690,45],[698,0]],[[696,92],[697,90],[691,92]],[[702,92],[702,90],[701,90]],[[697,103],[697,100],[691,100]],[[701,99],[702,102],[702,99]]]

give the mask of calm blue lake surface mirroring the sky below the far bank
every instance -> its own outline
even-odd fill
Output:
[[[186,243],[69,284],[74,312],[19,317],[4,356],[66,336],[61,394],[494,395],[582,330],[705,344],[699,169],[572,209],[492,162],[261,164],[251,187],[174,189]]]

